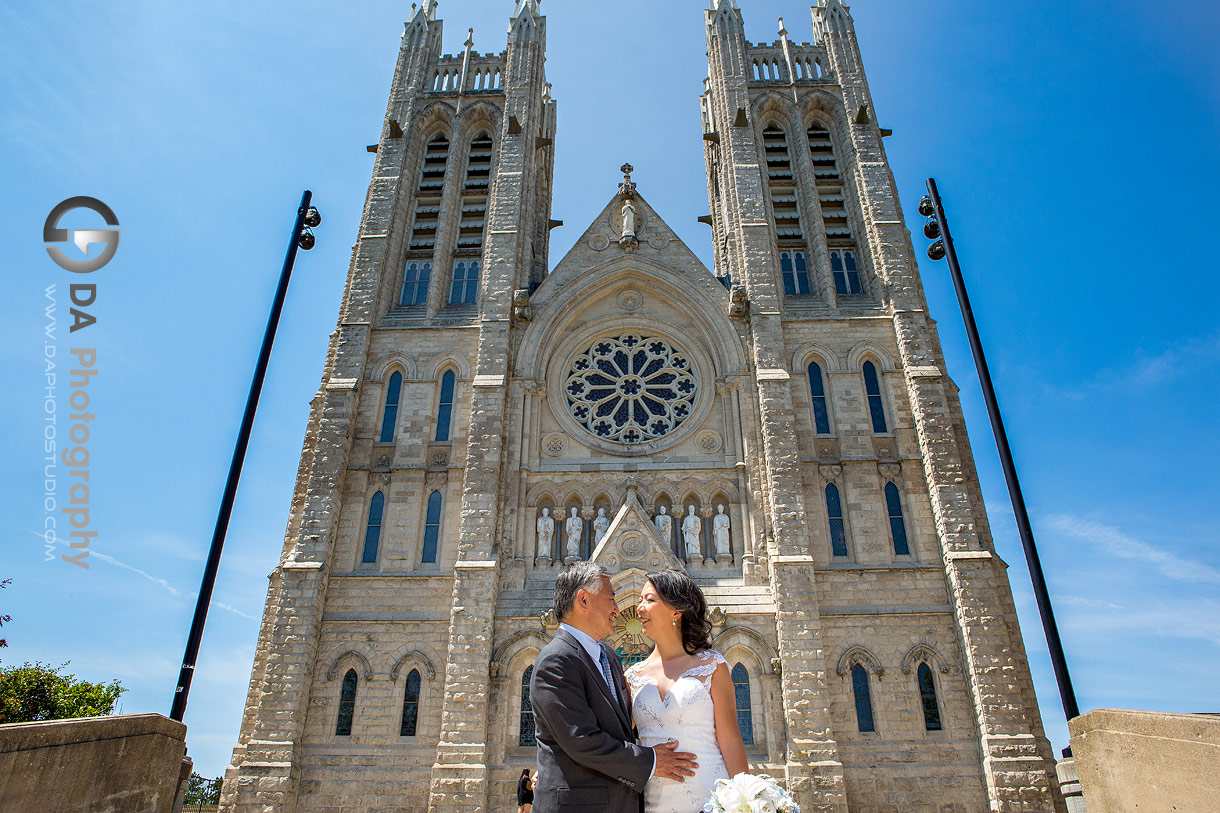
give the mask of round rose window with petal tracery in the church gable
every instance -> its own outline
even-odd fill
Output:
[[[667,339],[623,333],[572,359],[567,409],[594,436],[619,443],[664,437],[691,416],[699,383],[691,359]]]

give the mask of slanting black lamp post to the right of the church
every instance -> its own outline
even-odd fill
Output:
[[[953,288],[958,293],[958,305],[961,306],[961,319],[966,323],[970,352],[975,356],[978,383],[982,385],[983,400],[987,403],[987,416],[991,417],[992,432],[996,435],[996,447],[999,449],[999,461],[1004,468],[1004,480],[1008,482],[1008,494],[1013,500],[1013,513],[1016,515],[1016,530],[1021,536],[1021,547],[1025,548],[1025,562],[1030,566],[1033,597],[1038,603],[1038,615],[1042,616],[1042,630],[1047,635],[1047,646],[1050,649],[1050,664],[1054,667],[1055,680],[1059,684],[1059,698],[1064,704],[1064,715],[1071,720],[1080,717],[1080,708],[1076,706],[1076,692],[1071,686],[1071,675],[1068,674],[1068,662],[1064,658],[1063,643],[1059,641],[1059,627],[1055,626],[1055,614],[1050,609],[1047,582],[1042,576],[1042,563],[1038,559],[1038,549],[1033,544],[1030,515],[1025,510],[1025,497],[1021,494],[1021,482],[1016,479],[1016,466],[1013,464],[1013,452],[1009,449],[1008,435],[1004,432],[1004,420],[1000,417],[999,404],[996,402],[996,389],[992,387],[991,371],[987,369],[987,358],[983,355],[983,345],[978,341],[975,314],[970,309],[966,283],[961,280],[961,269],[958,266],[958,253],[953,248],[953,237],[949,234],[949,221],[944,217],[941,194],[937,192],[933,178],[927,179],[927,195],[920,200],[919,214],[927,217],[927,221],[924,223],[924,236],[931,240],[936,240],[927,247],[928,259],[947,259],[949,261],[949,275],[953,277]],[[1070,747],[1064,748],[1064,756],[1071,756]]]

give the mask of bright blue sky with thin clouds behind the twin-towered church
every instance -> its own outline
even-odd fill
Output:
[[[559,101],[558,261],[617,167],[711,262],[698,94],[703,2],[547,0]],[[811,38],[808,6],[742,0],[752,40]],[[449,0],[445,51],[504,46],[509,0]],[[5,664],[118,678],[167,713],[257,344],[304,188],[317,248],[288,294],[187,713],[196,768],[237,737],[266,576],[372,170],[405,2],[0,6],[0,344]],[[1220,7],[859,2],[853,9],[909,226],[937,178],[1022,477],[1082,709],[1218,712]],[[43,249],[72,195],[121,221],[67,334],[70,276]],[[83,226],[84,223],[77,223]],[[101,225],[100,222],[96,225]],[[943,264],[921,255],[1010,565],[1043,718],[1066,745],[987,416]],[[59,360],[89,385],[88,571],[45,560],[44,291]],[[61,367],[61,371],[63,369]],[[62,380],[61,380],[62,381]],[[67,389],[60,388],[66,419]],[[1210,417],[1209,417],[1210,416]],[[66,431],[67,425],[62,424]],[[61,468],[61,479],[65,472]]]

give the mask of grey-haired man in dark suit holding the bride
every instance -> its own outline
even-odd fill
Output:
[[[538,740],[533,813],[637,811],[650,776],[681,782],[698,767],[676,742],[636,745],[619,656],[601,643],[617,614],[605,568],[578,562],[559,574],[559,632],[529,682]]]

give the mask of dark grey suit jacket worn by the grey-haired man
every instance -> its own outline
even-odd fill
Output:
[[[534,663],[529,703],[538,739],[533,813],[634,812],[653,773],[653,751],[636,745],[619,656],[600,645],[619,687],[615,701],[600,669],[566,630]]]

